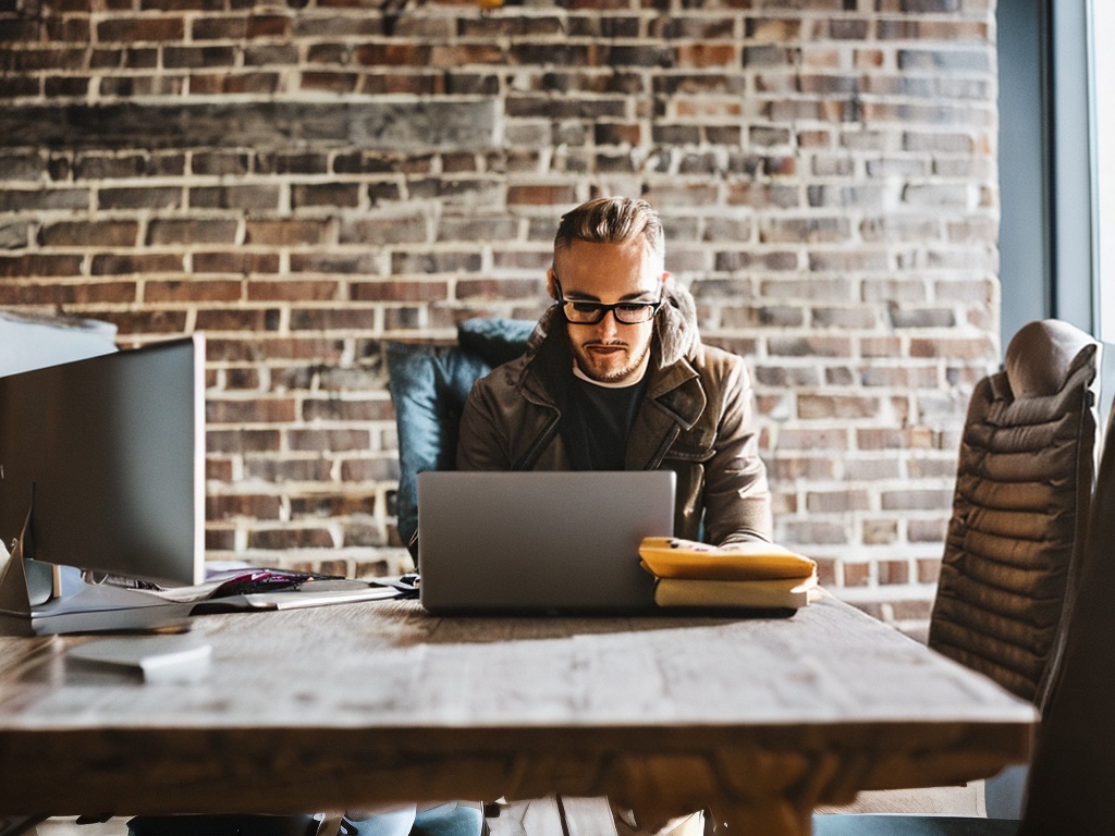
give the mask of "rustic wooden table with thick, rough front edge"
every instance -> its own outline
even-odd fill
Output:
[[[0,639],[0,811],[336,810],[609,796],[809,833],[860,789],[1022,761],[1029,703],[831,596],[792,619],[444,619],[388,601],[194,620],[204,679]],[[749,829],[750,828],[750,829]]]

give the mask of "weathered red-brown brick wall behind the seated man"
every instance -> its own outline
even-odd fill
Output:
[[[0,305],[209,334],[209,547],[395,571],[384,340],[665,216],[777,534],[917,629],[999,353],[993,0],[0,0]]]

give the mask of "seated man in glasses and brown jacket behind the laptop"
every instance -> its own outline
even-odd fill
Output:
[[[675,535],[770,539],[766,469],[743,360],[702,346],[692,297],[665,270],[641,200],[564,215],[526,353],[477,381],[460,420],[462,470],[677,474]]]

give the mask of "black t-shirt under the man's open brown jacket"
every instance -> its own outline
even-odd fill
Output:
[[[642,401],[644,381],[608,387],[572,376],[561,434],[574,470],[623,469],[628,434]]]

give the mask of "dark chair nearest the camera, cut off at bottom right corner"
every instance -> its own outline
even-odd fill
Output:
[[[1046,677],[1021,822],[815,816],[815,836],[1107,836],[1115,833],[1115,431],[1108,425],[1078,572]]]

